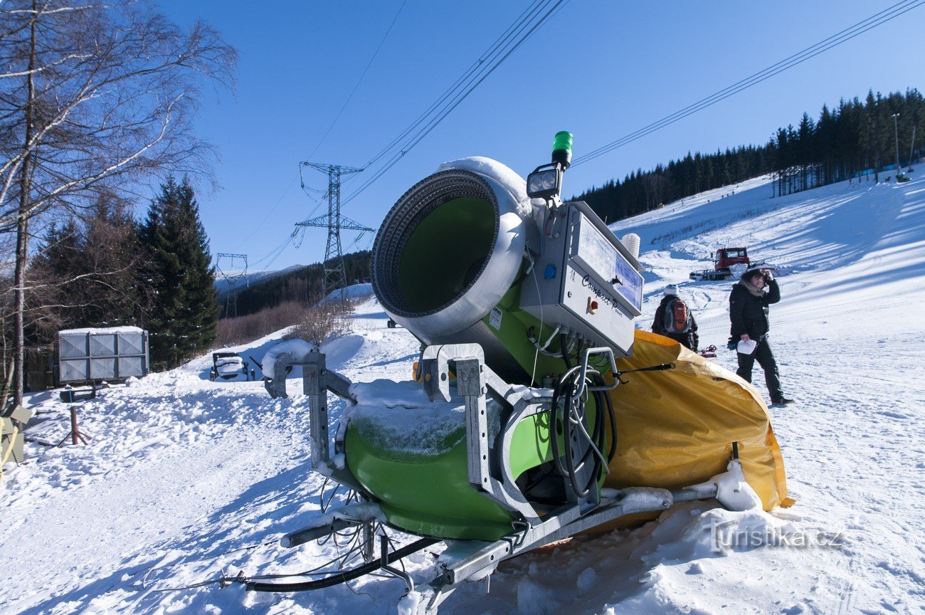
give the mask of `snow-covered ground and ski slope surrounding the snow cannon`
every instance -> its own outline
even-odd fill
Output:
[[[774,428],[796,505],[769,514],[694,502],[633,531],[579,536],[505,563],[489,594],[467,585],[441,613],[925,610],[925,178],[770,196],[756,179],[612,228],[642,237],[639,326],[661,288],[678,283],[701,344],[720,347],[728,367],[730,282],[691,282],[688,272],[724,245],[747,245],[788,272],[771,339],[797,403],[774,411]],[[352,333],[326,345],[328,366],[356,381],[407,379],[417,343],[386,322],[375,298],[362,303]],[[276,339],[233,350],[260,359]],[[403,584],[381,578],[301,595],[163,591],[222,571],[300,572],[341,548],[276,542],[318,509],[322,483],[310,469],[298,370],[290,399],[271,400],[259,381],[210,382],[210,366],[208,355],[107,389],[80,408],[90,447],[30,443],[28,463],[7,466],[0,611],[396,612]],[[63,437],[63,404],[51,392],[31,401],[41,413],[29,437]],[[331,404],[334,418],[341,411]],[[407,564],[425,581],[433,556]]]

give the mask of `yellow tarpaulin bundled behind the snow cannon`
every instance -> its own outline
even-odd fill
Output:
[[[663,372],[623,376],[611,392],[617,453],[605,486],[677,489],[721,474],[738,442],[746,481],[765,510],[790,506],[783,456],[759,392],[718,363],[669,338],[635,332],[633,356],[621,371],[674,363]]]

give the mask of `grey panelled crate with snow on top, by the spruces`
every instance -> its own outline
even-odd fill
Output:
[[[58,384],[148,374],[148,332],[137,326],[58,331]]]

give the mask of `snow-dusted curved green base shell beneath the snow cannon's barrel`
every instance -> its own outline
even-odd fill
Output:
[[[442,538],[493,540],[509,532],[511,513],[469,485],[462,402],[430,402],[413,381],[372,385],[351,388],[359,403],[348,413],[344,449],[351,474],[379,498],[388,522]],[[399,393],[400,405],[384,412],[384,392],[393,399]],[[487,412],[495,438],[499,405],[489,403]],[[531,457],[520,466],[542,462],[533,434],[518,438],[516,449]]]

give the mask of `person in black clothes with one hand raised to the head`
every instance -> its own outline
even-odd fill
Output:
[[[783,396],[777,362],[768,341],[768,332],[771,330],[768,306],[778,301],[781,301],[781,289],[771,271],[748,269],[733,285],[733,291],[729,294],[729,319],[732,321],[730,345],[750,339],[758,344],[751,354],[736,353],[739,368],[735,374],[751,382],[752,367],[758,359],[764,370],[764,381],[771,394],[771,403],[786,405],[793,403],[793,400]]]

